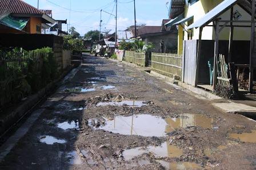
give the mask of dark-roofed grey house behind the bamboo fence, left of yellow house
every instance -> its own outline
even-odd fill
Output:
[[[162,23],[168,22],[168,19],[163,19]],[[129,28],[133,38],[135,37],[135,28],[131,26]],[[137,27],[137,39],[143,42],[153,43],[155,50],[160,50],[160,42],[165,42],[165,51],[173,51],[177,49],[177,31],[171,27],[162,26],[138,26]]]

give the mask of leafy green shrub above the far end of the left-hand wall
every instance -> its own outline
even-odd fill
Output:
[[[82,40],[74,39],[72,35],[66,35],[63,37],[64,44],[63,48],[71,51],[82,51],[85,47],[83,46]]]

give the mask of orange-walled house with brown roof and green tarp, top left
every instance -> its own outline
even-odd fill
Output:
[[[54,24],[49,10],[38,10],[21,0],[0,1],[0,33],[41,34],[47,24]]]

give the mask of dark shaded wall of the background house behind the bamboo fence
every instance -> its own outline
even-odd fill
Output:
[[[161,39],[165,41],[165,48],[169,50],[177,50],[178,43],[178,33],[170,32],[170,34],[150,36],[148,38],[143,38],[142,40],[147,44],[149,42],[153,43],[155,49],[160,49]]]

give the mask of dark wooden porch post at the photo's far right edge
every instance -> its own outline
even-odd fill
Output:
[[[251,44],[250,44],[250,74],[249,74],[249,92],[253,93],[253,65],[254,63],[254,34],[255,34],[255,0],[251,2]]]

